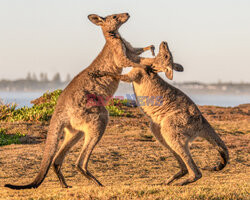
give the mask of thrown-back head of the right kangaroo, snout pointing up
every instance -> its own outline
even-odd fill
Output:
[[[159,53],[155,57],[153,68],[157,72],[165,72],[168,79],[173,79],[173,70],[182,72],[183,67],[180,64],[174,63],[173,56],[168,48],[167,42],[161,42]]]

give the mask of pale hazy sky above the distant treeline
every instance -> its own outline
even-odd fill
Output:
[[[87,15],[121,12],[133,46],[168,42],[185,68],[175,81],[250,82],[249,0],[0,0],[0,79],[75,76],[105,42]]]

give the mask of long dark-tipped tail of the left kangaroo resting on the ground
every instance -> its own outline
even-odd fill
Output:
[[[55,116],[55,114],[53,115]],[[11,185],[6,184],[4,187],[8,187],[11,189],[21,190],[21,189],[31,189],[31,188],[38,188],[43,180],[45,179],[50,165],[52,163],[52,160],[55,156],[58,141],[59,141],[59,134],[62,131],[63,123],[58,121],[58,117],[52,117],[50,122],[49,131],[47,134],[45,149],[43,153],[43,159],[41,162],[41,168],[36,176],[36,178],[32,181],[32,183],[29,183],[27,185]]]

